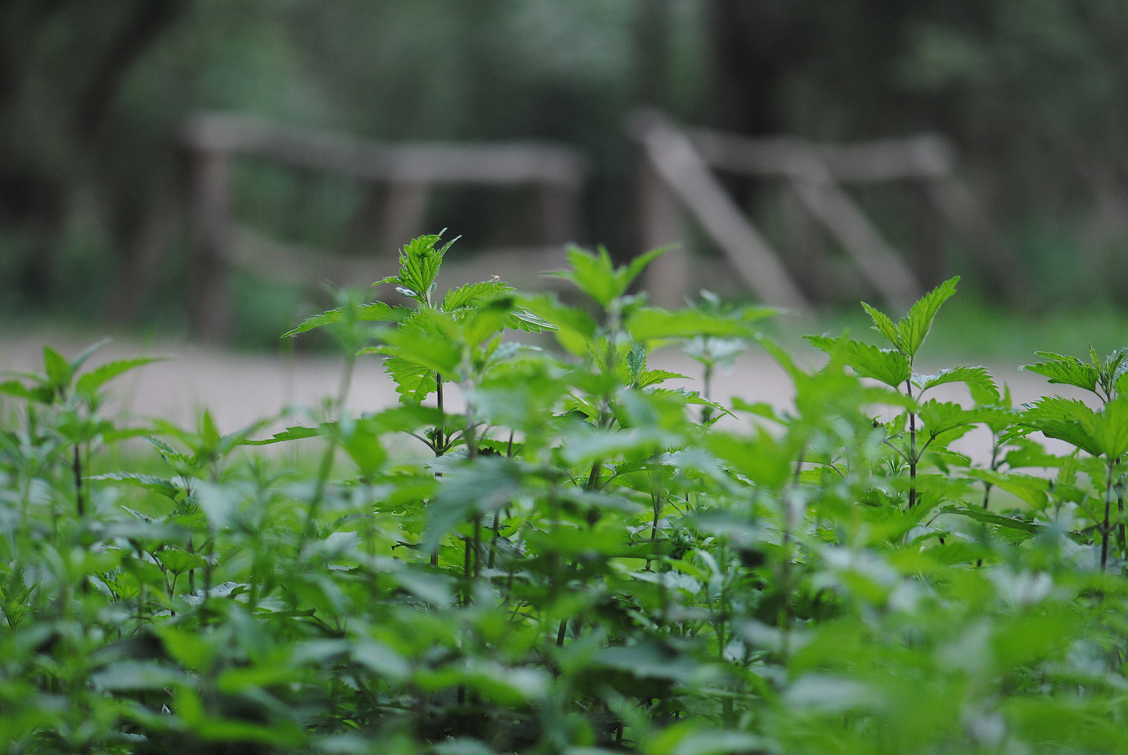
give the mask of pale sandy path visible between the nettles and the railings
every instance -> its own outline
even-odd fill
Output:
[[[65,335],[8,337],[0,340],[0,371],[39,367],[45,341],[68,357],[87,346],[87,343]],[[120,398],[107,407],[107,411],[124,410],[134,416],[161,417],[191,425],[197,410],[208,407],[223,432],[239,429],[264,417],[276,417],[287,406],[316,407],[324,397],[336,393],[341,374],[341,359],[328,356],[287,359],[176,341],[148,347],[139,343],[115,341],[99,352],[90,365],[139,355],[170,358],[120,379],[115,384],[115,394]],[[677,350],[666,349],[652,355],[650,366],[693,378],[690,381],[671,381],[670,385],[700,388],[697,381],[699,367]],[[1019,372],[1015,365],[989,367],[999,383],[1010,383],[1015,402],[1033,401],[1048,393],[1087,398],[1083,391],[1049,385],[1039,375]],[[933,394],[945,400],[968,400],[966,389],[960,385],[943,385]],[[783,370],[757,350],[741,357],[732,370],[714,378],[713,396],[722,402],[739,396],[749,401],[767,401],[777,408],[786,408],[794,398],[794,391]],[[359,359],[350,391],[350,406],[367,411],[395,402],[394,385],[378,361],[372,357]],[[451,408],[457,410],[459,403],[456,393],[451,397]],[[978,429],[959,441],[958,447],[981,461],[989,456],[989,443],[988,433]]]

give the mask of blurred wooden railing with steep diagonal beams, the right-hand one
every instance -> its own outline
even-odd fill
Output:
[[[793,136],[749,137],[708,130],[681,131],[660,113],[636,113],[628,130],[645,154],[642,214],[647,246],[681,241],[680,213],[693,215],[728,257],[747,286],[768,304],[804,310],[803,276],[825,260],[809,256],[788,272],[713,171],[784,179],[799,207],[794,233],[818,233],[817,224],[847,252],[862,277],[895,308],[907,307],[923,290],[920,275],[889,245],[843,188],[845,184],[913,183],[929,210],[953,225],[975,248],[985,272],[1017,297],[1021,267],[971,193],[955,178],[953,151],[935,135],[849,145],[811,144]],[[936,236],[937,229],[931,229]],[[687,252],[667,255],[650,270],[654,301],[675,304],[691,293]],[[938,267],[938,251],[925,267]],[[934,277],[927,275],[924,277]],[[931,283],[931,281],[929,281]]]

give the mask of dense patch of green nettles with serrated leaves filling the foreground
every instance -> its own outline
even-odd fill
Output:
[[[914,370],[954,278],[866,307],[888,346],[812,337],[810,368],[769,310],[629,293],[661,251],[570,250],[572,305],[439,295],[438,245],[379,282],[404,304],[344,293],[287,334],[328,329],[344,368],[268,438],[103,417],[143,361],[47,349],[0,384],[7,752],[1128,749],[1123,353],[1029,367],[1095,408],[1014,407],[982,367]],[[702,392],[647,365],[677,345]],[[791,408],[713,394],[749,348]],[[397,406],[346,400],[370,358]],[[951,446],[977,427],[989,460]],[[152,453],[98,453],[126,437]]]

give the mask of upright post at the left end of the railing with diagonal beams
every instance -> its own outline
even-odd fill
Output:
[[[646,268],[645,286],[650,301],[656,307],[673,309],[681,307],[687,295],[691,295],[689,256],[685,248],[685,215],[681,203],[644,158],[640,186],[640,216],[642,238],[646,250],[677,245]]]

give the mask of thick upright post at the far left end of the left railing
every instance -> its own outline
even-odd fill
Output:
[[[230,242],[230,169],[221,150],[197,150],[191,165],[192,328],[210,343],[227,339],[231,302],[227,291]]]

